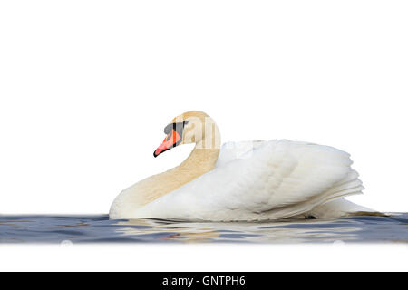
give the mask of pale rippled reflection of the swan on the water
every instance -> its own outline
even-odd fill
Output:
[[[256,242],[300,243],[335,240],[353,240],[357,227],[338,225],[335,220],[289,219],[278,222],[176,222],[157,219],[130,219],[118,221],[117,230],[123,236],[160,235],[162,240],[184,243],[203,242]],[[129,226],[129,227],[126,227]],[[143,229],[134,226],[147,226]],[[151,227],[151,228],[149,228]]]

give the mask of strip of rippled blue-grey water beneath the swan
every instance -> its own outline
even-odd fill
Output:
[[[267,222],[0,216],[0,243],[407,243],[408,213]]]

